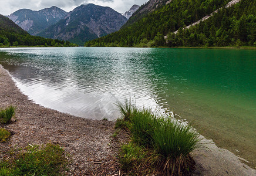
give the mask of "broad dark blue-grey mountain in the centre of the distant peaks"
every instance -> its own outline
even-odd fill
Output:
[[[64,19],[39,33],[39,36],[83,45],[87,40],[118,31],[127,19],[112,8],[94,4],[80,5]]]

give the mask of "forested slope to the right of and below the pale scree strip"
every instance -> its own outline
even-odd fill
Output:
[[[256,46],[256,0],[235,1],[196,25],[170,33],[166,45]]]

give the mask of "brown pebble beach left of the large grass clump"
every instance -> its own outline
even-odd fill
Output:
[[[15,118],[5,128],[13,135],[0,143],[1,160],[14,148],[53,143],[70,155],[68,174],[85,175],[99,166],[95,162],[109,161],[109,155],[115,155],[109,146],[113,121],[83,119],[35,104],[0,66],[0,107],[10,105],[16,107]]]

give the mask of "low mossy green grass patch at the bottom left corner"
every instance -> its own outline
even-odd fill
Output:
[[[46,144],[41,149],[29,147],[14,161],[2,161],[0,175],[61,175],[66,162],[64,151],[58,145]]]

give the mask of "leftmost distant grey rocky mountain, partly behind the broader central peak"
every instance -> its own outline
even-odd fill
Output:
[[[31,35],[37,35],[50,25],[63,19],[67,13],[56,6],[52,6],[40,11],[19,9],[7,17]]]

